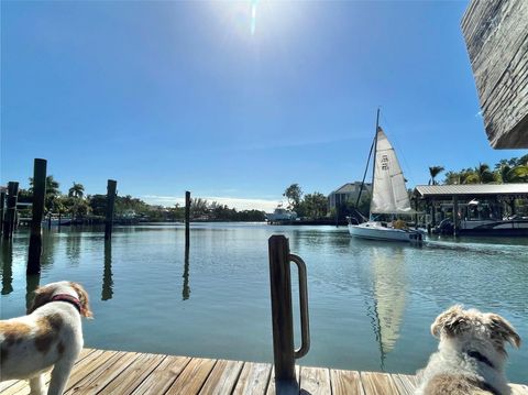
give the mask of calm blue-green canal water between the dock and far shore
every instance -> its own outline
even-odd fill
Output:
[[[308,267],[311,350],[300,364],[414,373],[437,347],[432,320],[455,303],[503,315],[528,343],[526,239],[413,248],[345,228],[208,223],[193,227],[186,264],[180,226],[117,228],[111,246],[100,230],[63,228],[45,233],[40,283],[85,285],[87,347],[272,362],[274,233]],[[1,245],[1,318],[25,311],[28,239],[22,230]],[[528,383],[528,347],[509,354],[508,378]]]

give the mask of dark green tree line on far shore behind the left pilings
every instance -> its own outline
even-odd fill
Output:
[[[33,200],[33,179],[30,178],[30,188],[19,190],[19,202],[31,204]],[[103,218],[107,208],[106,195],[86,195],[82,184],[73,183],[67,194],[59,190],[59,183],[50,175],[46,177],[46,195],[44,200],[45,215],[70,216],[72,219]],[[20,210],[21,217],[31,217],[31,209]],[[176,204],[172,207],[148,205],[130,195],[117,196],[114,216],[123,220],[143,221],[183,221],[185,207]],[[242,210],[220,205],[217,201],[194,198],[190,202],[190,217],[195,220],[209,221],[264,221],[265,213],[260,210]]]

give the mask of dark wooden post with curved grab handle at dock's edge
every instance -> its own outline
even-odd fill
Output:
[[[310,348],[306,265],[299,256],[289,253],[288,239],[282,234],[270,238],[268,251],[275,387],[277,394],[289,394],[298,392],[295,360],[306,355]],[[297,264],[299,273],[301,347],[298,350],[294,343],[290,262]]]

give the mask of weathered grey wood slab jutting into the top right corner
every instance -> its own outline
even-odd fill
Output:
[[[528,147],[528,1],[473,0],[462,19],[484,127],[496,149]]]

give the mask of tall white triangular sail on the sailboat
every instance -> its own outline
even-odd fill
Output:
[[[396,153],[383,132],[377,129],[376,157],[374,158],[374,185],[371,201],[372,213],[411,213],[410,200],[405,187],[404,173]]]

